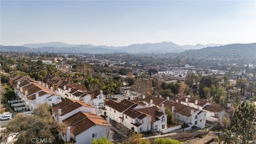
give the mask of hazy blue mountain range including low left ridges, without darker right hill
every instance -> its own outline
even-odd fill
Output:
[[[221,44],[196,44],[178,45],[172,42],[131,44],[128,46],[106,46],[91,44],[66,44],[62,42],[32,43],[20,46],[1,46],[1,51],[32,51],[32,52],[74,52],[74,53],[163,53],[183,52],[190,49],[202,49],[209,46],[220,46]]]

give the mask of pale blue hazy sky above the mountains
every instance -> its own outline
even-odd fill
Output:
[[[256,1],[1,1],[1,44],[256,42]]]

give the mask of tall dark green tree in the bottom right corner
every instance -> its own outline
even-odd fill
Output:
[[[251,103],[243,102],[234,113],[233,132],[242,137],[243,144],[255,139],[256,108]]]

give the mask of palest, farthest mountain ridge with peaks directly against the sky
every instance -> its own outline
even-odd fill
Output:
[[[87,51],[86,49],[110,49],[128,53],[140,53],[140,52],[182,52],[189,49],[202,49],[208,46],[219,46],[221,44],[196,44],[196,45],[178,45],[173,42],[162,42],[162,43],[144,43],[144,44],[131,44],[128,46],[106,46],[106,45],[91,45],[91,44],[66,44],[62,42],[50,42],[50,43],[34,43],[24,44],[23,47],[41,49],[43,47],[57,47],[62,48],[69,47],[74,51]],[[43,49],[41,49],[43,50]],[[41,51],[40,50],[40,51]],[[101,53],[101,52],[99,52]]]

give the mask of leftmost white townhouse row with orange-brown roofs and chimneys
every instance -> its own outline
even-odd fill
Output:
[[[61,101],[61,96],[54,92],[52,87],[49,89],[47,85],[34,80],[25,80],[14,86],[14,91],[17,97],[21,99],[25,109],[33,110],[39,103],[49,103],[53,106]]]

